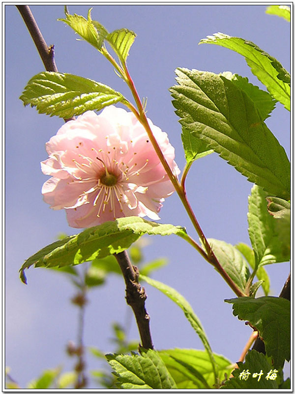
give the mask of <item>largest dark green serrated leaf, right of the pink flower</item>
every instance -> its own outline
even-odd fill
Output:
[[[232,81],[211,72],[177,68],[171,88],[182,127],[269,195],[290,198],[290,162],[254,102]]]

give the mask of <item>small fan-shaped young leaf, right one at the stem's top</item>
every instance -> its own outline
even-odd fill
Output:
[[[120,60],[126,62],[136,34],[128,29],[119,29],[107,35],[106,40],[117,53]]]

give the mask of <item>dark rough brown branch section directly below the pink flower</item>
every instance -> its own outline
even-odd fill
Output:
[[[153,349],[149,330],[149,316],[145,308],[146,291],[138,283],[138,268],[131,264],[126,251],[114,255],[126,283],[126,302],[131,306],[141,337],[142,347]]]

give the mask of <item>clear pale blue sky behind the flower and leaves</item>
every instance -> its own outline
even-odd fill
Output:
[[[86,16],[88,5],[71,5],[70,13]],[[128,57],[129,71],[140,96],[148,98],[148,117],[169,135],[176,161],[183,169],[181,128],[171,104],[169,88],[177,67],[215,73],[232,71],[261,86],[245,60],[216,45],[198,45],[212,33],[222,32],[255,42],[290,70],[290,24],[265,14],[266,5],[93,5],[92,19],[109,31],[127,28],[137,33]],[[130,98],[113,67],[89,44],[77,41],[74,32],[57,21],[62,5],[32,5],[31,10],[48,45],[55,45],[60,72],[105,83]],[[28,285],[19,279],[25,259],[56,240],[59,232],[74,234],[65,212],[53,211],[43,202],[41,187],[47,177],[40,162],[47,158],[45,143],[63,120],[39,115],[18,99],[28,80],[44,70],[23,20],[14,5],[5,6],[5,186],[6,186],[6,365],[24,387],[45,368],[62,364],[70,370],[73,360],[64,352],[76,339],[77,310],[69,299],[72,286],[62,274],[42,268],[27,272]],[[290,114],[278,103],[266,120],[290,157]],[[252,185],[216,154],[193,164],[186,181],[187,194],[207,237],[231,244],[250,245],[247,232],[247,198]],[[160,212],[161,223],[186,227],[197,235],[177,195],[169,197]],[[235,295],[217,272],[182,239],[149,237],[144,249],[148,262],[166,257],[169,264],[153,274],[180,292],[199,316],[215,353],[237,361],[251,328],[232,315],[225,298]],[[278,295],[289,273],[289,263],[266,266],[271,294]],[[181,310],[157,290],[146,285],[147,310],[157,349],[203,349]],[[130,323],[129,338],[137,339],[133,317],[125,303],[123,279],[110,276],[107,285],[89,293],[85,344],[112,352],[110,325]],[[128,323],[128,324],[129,324]],[[99,367],[89,355],[88,371]],[[95,386],[92,386],[94,388]]]

